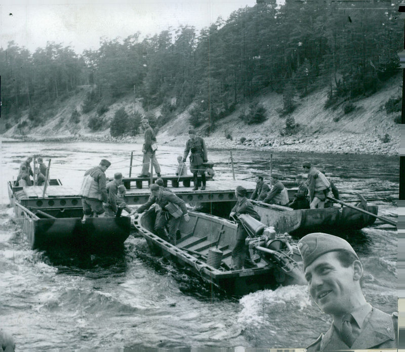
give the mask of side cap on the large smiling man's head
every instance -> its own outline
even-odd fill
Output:
[[[317,257],[322,254],[334,252],[337,250],[346,250],[358,259],[358,256],[352,246],[343,238],[324,234],[322,232],[314,232],[308,234],[298,241],[298,249],[302,256],[304,270]]]

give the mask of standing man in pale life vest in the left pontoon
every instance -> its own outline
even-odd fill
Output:
[[[98,217],[105,216],[103,202],[108,202],[108,195],[104,172],[110,165],[111,163],[108,160],[102,159],[98,166],[85,172],[82,187],[80,188],[84,214],[83,220],[91,217],[93,212]]]

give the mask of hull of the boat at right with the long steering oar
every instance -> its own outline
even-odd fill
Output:
[[[254,208],[260,214],[263,224],[274,226],[277,232],[293,235],[318,231],[360,230],[376,221],[374,216],[347,207],[292,210],[279,205],[262,206],[255,203]],[[365,210],[377,215],[378,206],[368,205]]]

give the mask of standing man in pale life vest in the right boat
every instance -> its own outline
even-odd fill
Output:
[[[307,185],[311,201],[309,207],[311,209],[325,207],[326,196],[330,191],[330,182],[317,168],[311,167],[311,163],[304,162],[302,168],[308,172]]]

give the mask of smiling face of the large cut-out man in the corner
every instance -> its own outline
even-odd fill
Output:
[[[336,252],[322,254],[305,269],[309,293],[324,313],[339,315],[350,312],[355,305],[353,293],[360,289],[355,279],[357,270],[353,264],[344,268]]]

